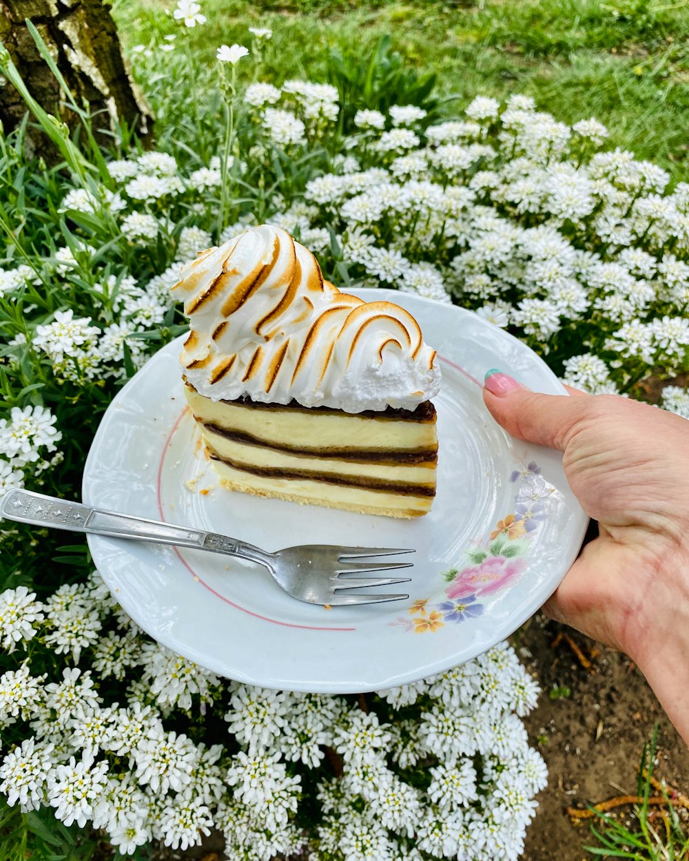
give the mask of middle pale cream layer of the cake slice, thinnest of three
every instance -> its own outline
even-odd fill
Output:
[[[202,436],[211,449],[225,461],[232,461],[237,466],[246,468],[283,469],[285,472],[306,470],[326,476],[338,475],[380,479],[400,485],[435,486],[435,463],[422,462],[413,465],[382,465],[375,461],[339,461],[295,455],[290,452],[270,449],[260,445],[239,443],[236,440],[214,433],[210,428],[202,427]]]

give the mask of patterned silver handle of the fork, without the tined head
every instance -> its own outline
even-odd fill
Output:
[[[0,499],[0,517],[34,526],[53,526],[70,532],[88,532],[110,538],[134,538],[158,544],[174,544],[240,556],[268,565],[270,554],[252,544],[215,532],[191,529],[175,523],[161,523],[117,511],[91,508],[80,502],[57,499],[28,490],[13,489]]]

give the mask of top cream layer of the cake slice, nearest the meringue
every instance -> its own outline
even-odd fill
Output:
[[[435,455],[438,451],[435,410],[418,420],[414,412],[393,411],[374,418],[368,413],[309,410],[303,407],[250,405],[242,401],[213,401],[184,387],[189,406],[203,424],[239,442],[271,446],[282,451],[326,455]],[[405,413],[400,416],[395,413]]]

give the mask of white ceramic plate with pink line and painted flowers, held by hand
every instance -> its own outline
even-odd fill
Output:
[[[562,455],[508,437],[481,399],[491,368],[536,391],[564,394],[546,365],[461,308],[380,289],[357,295],[406,307],[441,356],[438,496],[429,515],[369,517],[220,487],[185,409],[179,342],[122,388],[90,449],[89,505],[221,532],[268,550],[297,543],[416,548],[412,582],[402,590],[408,586],[407,601],[326,610],[289,598],[267,571],[239,560],[90,536],[102,578],[133,620],[227,678],[352,693],[456,666],[543,604],[586,531]]]

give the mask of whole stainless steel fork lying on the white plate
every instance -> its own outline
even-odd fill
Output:
[[[302,544],[269,553],[253,544],[216,532],[191,529],[174,523],[160,523],[116,511],[91,508],[79,502],[55,499],[26,490],[10,490],[0,499],[0,517],[34,526],[53,526],[71,532],[88,532],[110,538],[174,544],[177,547],[209,550],[238,556],[268,568],[280,588],[307,604],[341,607],[351,604],[379,604],[399,601],[408,595],[352,594],[352,589],[408,583],[410,578],[350,577],[373,571],[389,571],[412,566],[411,562],[357,561],[376,556],[413,553],[413,549],[339,547],[335,544]]]

